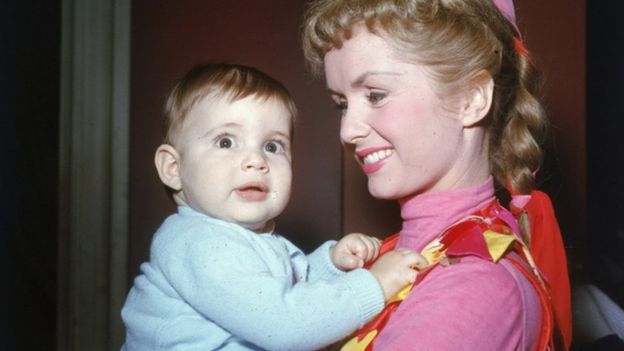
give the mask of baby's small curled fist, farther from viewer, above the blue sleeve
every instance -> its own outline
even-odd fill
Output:
[[[375,259],[379,255],[379,239],[372,236],[351,233],[345,235],[336,246],[331,249],[331,259],[334,265],[343,271],[362,268],[364,263]]]

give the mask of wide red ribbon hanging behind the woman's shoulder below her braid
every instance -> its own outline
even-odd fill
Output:
[[[550,198],[541,191],[531,192],[525,210],[531,222],[531,254],[550,286],[554,320],[563,346],[569,350],[572,341],[570,281],[559,224]]]

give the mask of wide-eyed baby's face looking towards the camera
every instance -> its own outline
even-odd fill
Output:
[[[276,99],[205,98],[176,136],[180,199],[193,209],[259,231],[288,202],[291,118]]]

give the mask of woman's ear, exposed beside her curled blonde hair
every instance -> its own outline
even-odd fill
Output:
[[[472,127],[487,116],[492,106],[494,80],[487,71],[480,71],[471,80],[462,107],[464,127]]]

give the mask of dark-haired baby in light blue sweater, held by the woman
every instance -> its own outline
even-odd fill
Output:
[[[424,259],[349,234],[305,255],[273,232],[290,196],[296,108],[240,65],[193,68],[165,107],[156,150],[177,213],[122,310],[124,350],[314,350],[343,339],[416,277]]]

